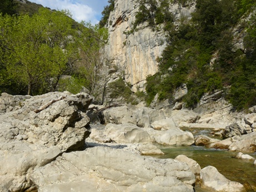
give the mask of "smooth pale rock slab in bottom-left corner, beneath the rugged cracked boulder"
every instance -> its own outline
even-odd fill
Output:
[[[44,166],[61,154],[57,146],[12,142],[0,144],[0,191],[23,191],[33,186],[33,169]]]

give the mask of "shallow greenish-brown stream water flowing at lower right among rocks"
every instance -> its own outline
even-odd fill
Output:
[[[197,161],[202,169],[208,165],[215,166],[219,173],[232,181],[243,184],[247,191],[256,191],[256,166],[253,161],[234,158],[238,152],[208,149],[203,146],[160,146],[160,149],[165,155],[158,156],[159,158],[174,159],[178,155],[186,155]],[[256,158],[256,153],[244,154]],[[207,191],[199,187],[196,187],[195,190],[197,192]]]

